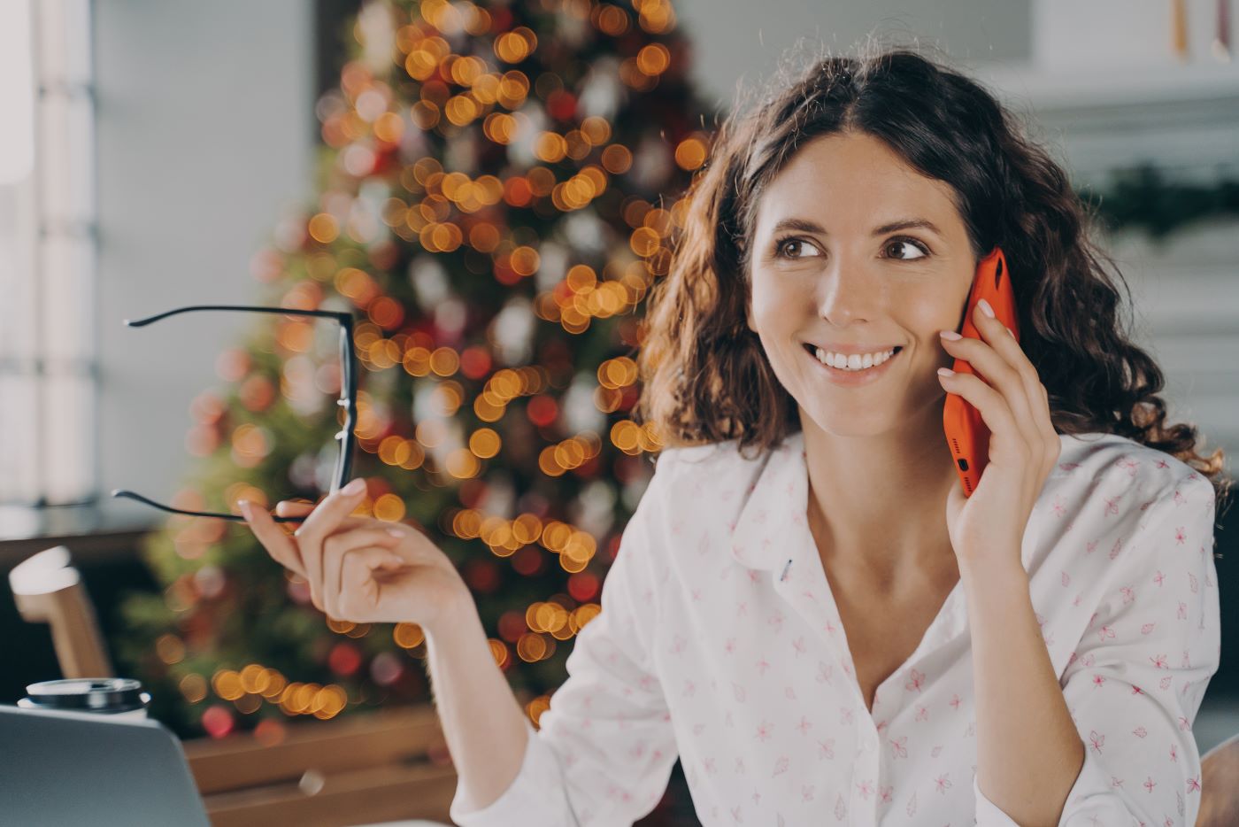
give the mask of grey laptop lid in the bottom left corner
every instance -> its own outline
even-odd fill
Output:
[[[211,827],[181,741],[157,720],[5,704],[0,823]]]

